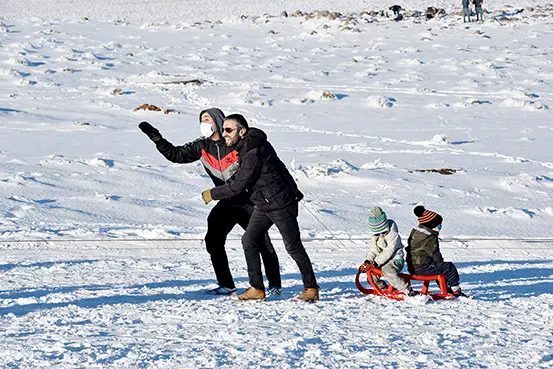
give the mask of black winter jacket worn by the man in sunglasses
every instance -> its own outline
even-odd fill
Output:
[[[303,198],[296,181],[267,141],[265,132],[249,128],[235,148],[240,167],[230,181],[211,190],[214,200],[247,191],[259,210],[274,211]]]

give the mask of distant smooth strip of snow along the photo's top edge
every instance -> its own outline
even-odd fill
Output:
[[[484,0],[484,9],[500,10],[507,7],[525,8],[545,5],[547,0]],[[392,5],[400,5],[408,10],[424,10],[429,6],[445,9],[448,13],[461,10],[461,0],[417,0],[359,1],[359,0],[2,0],[0,16],[7,18],[30,18],[56,20],[77,20],[87,17],[96,21],[126,20],[131,22],[194,23],[204,20],[218,21],[238,18],[242,15],[279,15],[282,11],[293,13],[296,10],[362,12],[388,10]],[[391,13],[391,12],[390,12]]]

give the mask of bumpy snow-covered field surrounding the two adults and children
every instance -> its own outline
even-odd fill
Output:
[[[0,367],[553,367],[553,5],[464,24],[360,13],[384,2],[41,3],[0,4]],[[279,16],[296,9],[342,16]],[[204,294],[212,184],[137,125],[182,144],[213,106],[267,132],[305,193],[319,303],[289,301],[275,229],[283,300]],[[416,204],[473,299],[357,291],[369,208],[406,239]]]

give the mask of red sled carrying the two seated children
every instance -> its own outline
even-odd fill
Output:
[[[360,281],[360,276],[363,273],[357,272],[357,275],[355,276],[355,285],[359,289],[359,291],[363,292],[366,295],[378,295],[378,296],[384,296],[392,300],[403,300],[405,298],[405,294],[403,292],[399,292],[388,283],[388,288],[385,290],[382,290],[378,287],[378,285],[374,282],[372,277],[383,277],[384,273],[378,268],[370,268],[366,275],[367,275],[367,281],[370,283],[372,288],[365,288]],[[453,300],[455,296],[452,293],[447,292],[447,284],[445,282],[445,277],[442,274],[436,274],[436,275],[413,275],[413,274],[405,274],[405,273],[399,273],[399,276],[406,282],[411,284],[411,281],[422,281],[422,288],[420,291],[418,291],[421,294],[428,295],[432,298],[432,300]],[[440,286],[440,292],[434,293],[430,291],[430,282],[435,281],[438,283],[438,286]],[[413,287],[411,285],[411,287]]]

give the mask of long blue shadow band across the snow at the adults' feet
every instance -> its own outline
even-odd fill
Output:
[[[59,263],[84,264],[91,263],[97,260],[79,260],[79,261],[59,261],[59,262],[44,262],[34,264],[5,264],[0,265],[0,271],[13,269],[15,267],[50,267]],[[550,263],[551,267],[535,268],[536,264]],[[464,291],[473,296],[476,300],[485,301],[502,301],[511,298],[527,298],[541,294],[553,294],[553,283],[551,283],[553,275],[553,262],[548,260],[524,260],[524,261],[485,261],[485,262],[457,262],[456,266],[461,268],[470,268],[479,265],[488,265],[490,267],[498,267],[506,265],[503,270],[494,270],[490,272],[463,273],[461,272],[461,286]],[[507,266],[507,265],[514,265]],[[520,266],[520,267],[517,267]],[[405,272],[405,271],[404,271]],[[353,295],[358,295],[359,292],[355,287],[356,268],[344,268],[341,270],[325,270],[319,271],[319,285],[322,292],[322,300],[326,298],[349,298]],[[326,281],[327,279],[348,277],[347,281]],[[301,289],[301,276],[299,274],[286,274],[282,276],[283,281],[293,279],[296,281],[294,285],[286,286],[286,290]],[[247,278],[235,278],[236,282],[246,282]],[[156,301],[170,300],[212,300],[218,296],[210,296],[204,293],[205,285],[212,284],[214,281],[210,279],[198,280],[167,280],[162,282],[144,283],[136,285],[82,285],[82,286],[67,286],[67,287],[43,287],[42,289],[24,288],[13,291],[0,291],[0,298],[41,298],[49,294],[56,293],[73,293],[77,290],[101,291],[114,290],[121,292],[114,296],[91,297],[72,301],[55,302],[55,303],[32,303],[26,305],[13,305],[0,308],[0,315],[14,314],[16,316],[25,315],[38,310],[54,309],[59,307],[78,306],[81,308],[97,308],[102,305],[118,305],[118,304],[145,304]],[[157,293],[144,295],[142,289],[163,289],[163,288],[179,288],[191,287],[199,285],[197,289],[183,291],[181,293]],[[435,286],[431,286],[431,288]],[[327,291],[330,291],[328,293]]]

